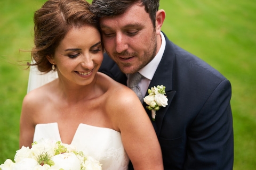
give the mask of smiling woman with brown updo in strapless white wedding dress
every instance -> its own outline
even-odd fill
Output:
[[[161,148],[138,97],[97,72],[103,47],[89,7],[84,0],[49,0],[35,12],[35,62],[28,65],[42,73],[55,70],[58,78],[23,99],[20,147],[50,138],[75,145],[102,169],[127,169],[129,159],[134,169],[163,169]]]

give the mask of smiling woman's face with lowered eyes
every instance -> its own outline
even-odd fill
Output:
[[[52,58],[60,79],[82,86],[93,81],[102,60],[100,32],[89,25],[71,28]]]

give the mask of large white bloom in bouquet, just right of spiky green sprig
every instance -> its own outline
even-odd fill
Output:
[[[71,153],[63,153],[59,155],[55,155],[52,157],[54,165],[52,168],[63,170],[81,170],[81,161],[76,157],[76,155]]]

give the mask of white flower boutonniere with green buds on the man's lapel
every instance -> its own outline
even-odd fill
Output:
[[[152,120],[155,121],[156,111],[158,111],[161,107],[167,106],[167,97],[165,96],[165,86],[157,86],[151,87],[148,89],[148,96],[146,96],[143,100],[148,105],[147,108],[151,111]]]

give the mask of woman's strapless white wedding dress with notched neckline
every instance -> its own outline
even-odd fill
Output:
[[[34,141],[41,138],[61,141],[58,123],[37,124]],[[102,164],[103,170],[128,168],[129,158],[124,150],[121,133],[109,128],[79,124],[71,145],[92,156]]]

